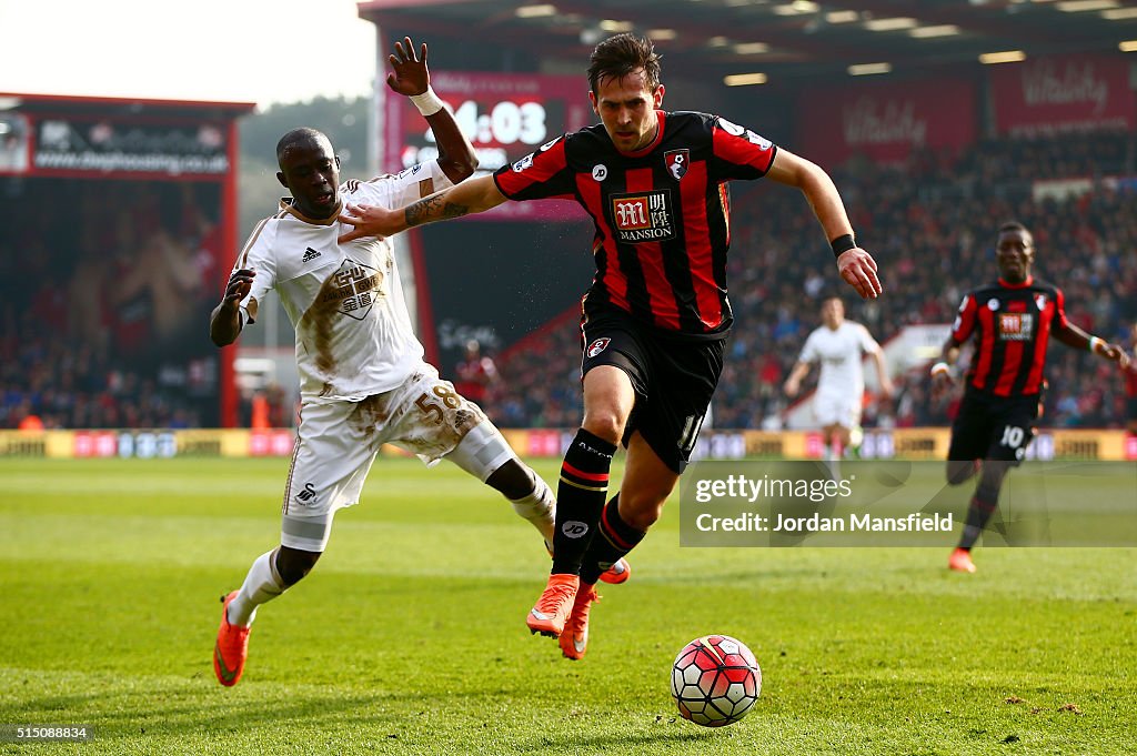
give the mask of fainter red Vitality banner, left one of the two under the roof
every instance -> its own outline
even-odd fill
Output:
[[[800,151],[827,166],[854,155],[896,163],[913,148],[962,148],[978,133],[976,88],[936,80],[811,90],[798,103],[798,133]]]

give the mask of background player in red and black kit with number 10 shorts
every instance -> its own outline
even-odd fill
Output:
[[[931,367],[937,382],[953,381],[960,347],[974,338],[976,351],[964,376],[966,389],[947,452],[947,480],[953,485],[981,471],[960,546],[948,559],[948,567],[960,572],[976,571],[971,548],[998,506],[1004,476],[1022,462],[1034,439],[1051,334],[1068,347],[1088,349],[1122,367],[1129,363],[1124,349],[1068,321],[1062,290],[1031,275],[1035,241],[1021,223],[999,227],[995,261],[998,281],[963,298],[943,358]]]

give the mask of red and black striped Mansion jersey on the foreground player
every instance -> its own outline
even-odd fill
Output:
[[[542,144],[493,178],[512,200],[575,199],[592,217],[596,277],[586,316],[606,305],[665,332],[724,338],[730,193],[761,178],[777,147],[705,113],[659,111],[659,133],[620,152],[603,125]]]

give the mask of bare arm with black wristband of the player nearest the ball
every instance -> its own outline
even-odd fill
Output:
[[[766,177],[802,190],[825,230],[825,239],[838,255],[837,269],[841,279],[856,289],[862,299],[879,297],[883,288],[877,276],[877,261],[856,246],[845,203],[829,174],[816,164],[779,148]]]

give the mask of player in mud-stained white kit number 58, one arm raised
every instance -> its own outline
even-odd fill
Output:
[[[466,178],[476,166],[468,140],[429,86],[426,45],[421,60],[409,39],[395,49],[388,84],[425,116],[438,160],[340,186],[339,158],[327,138],[312,128],[287,133],[276,146],[276,177],[292,197],[249,236],[210,319],[214,343],[232,343],[275,289],[296,327],[301,394],[281,546],[258,557],[240,590],[223,599],[214,672],[224,686],[236,684],[244,670],[257,606],[316,564],[335,510],[356,504],[383,443],[417,454],[428,465],[443,457],[454,462],[500,491],[547,546],[553,543],[556,504],[549,487],[478,405],[423,362],[390,242],[337,241],[345,200],[401,207]],[[622,582],[625,567],[606,578]]]

